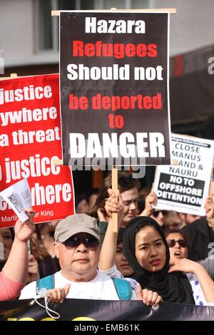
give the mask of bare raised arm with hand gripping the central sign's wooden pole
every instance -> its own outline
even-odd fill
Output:
[[[118,213],[118,226],[120,226],[124,210],[121,194],[118,194],[118,200],[116,200],[116,195],[113,190],[109,188],[108,195],[109,197],[105,205],[105,210],[108,215],[108,227],[101,247],[99,262],[99,268],[102,271],[111,269],[115,264],[118,233],[112,231],[112,213]]]

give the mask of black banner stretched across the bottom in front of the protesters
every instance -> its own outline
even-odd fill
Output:
[[[0,321],[54,321],[44,308],[32,301],[0,302]],[[44,299],[39,302],[44,305]],[[65,299],[63,304],[49,304],[49,308],[60,314],[59,321],[214,321],[214,306],[162,303],[153,309],[141,301]]]

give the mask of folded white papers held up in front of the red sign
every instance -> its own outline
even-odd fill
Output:
[[[0,192],[1,197],[10,205],[21,222],[29,219],[24,209],[31,208],[31,190],[26,179],[16,182]]]

